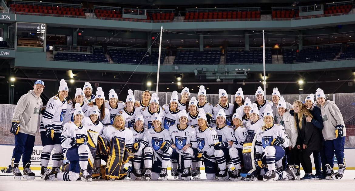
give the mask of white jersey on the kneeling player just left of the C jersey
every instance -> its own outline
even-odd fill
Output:
[[[141,143],[144,147],[149,146],[153,148],[153,151],[163,154],[160,150],[163,142],[165,140],[171,140],[171,136],[169,130],[163,129],[162,131],[155,131],[154,128],[148,129],[147,132],[143,136],[143,140]],[[141,145],[142,146],[142,145]]]

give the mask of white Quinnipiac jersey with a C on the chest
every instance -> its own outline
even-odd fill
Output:
[[[180,151],[185,145],[192,143],[193,148],[197,148],[197,139],[195,128],[187,126],[184,130],[180,129],[180,125],[172,125],[169,128],[171,139],[175,144],[176,148]]]

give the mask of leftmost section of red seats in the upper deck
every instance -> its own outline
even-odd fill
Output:
[[[39,5],[23,5],[23,4],[11,4],[11,11],[15,11],[18,14],[21,12],[35,13],[35,14],[48,14],[48,15],[66,15],[66,16],[81,16],[85,17],[83,9],[71,8],[71,7],[59,7],[59,6],[39,6]]]

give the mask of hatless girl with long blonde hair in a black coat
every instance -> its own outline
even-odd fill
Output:
[[[314,180],[310,156],[313,151],[321,150],[321,136],[316,127],[311,122],[306,121],[307,117],[313,118],[313,116],[300,100],[293,103],[293,108],[295,111],[295,126],[298,133],[296,146],[297,149],[301,150],[299,157],[305,171],[305,176],[301,180]]]

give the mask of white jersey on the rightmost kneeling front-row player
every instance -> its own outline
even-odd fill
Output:
[[[284,143],[281,146],[288,147],[290,140],[287,136],[284,127],[282,125],[274,124],[272,127],[266,129],[265,131],[261,128],[256,131],[256,143],[255,151],[257,153],[263,154],[266,146],[270,146],[275,137],[282,137]]]

